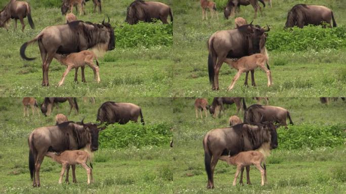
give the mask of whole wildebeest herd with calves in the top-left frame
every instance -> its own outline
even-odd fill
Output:
[[[63,84],[66,75],[71,69],[75,69],[74,81],[77,81],[77,71],[79,67],[81,67],[82,81],[85,82],[85,65],[89,65],[93,69],[95,81],[100,82],[99,66],[93,63],[94,59],[96,59],[95,54],[89,51],[88,56],[86,56],[85,50],[95,49],[101,53],[114,50],[115,27],[110,24],[109,17],[107,22],[103,20],[101,24],[77,20],[76,16],[73,14],[73,7],[75,6],[76,10],[78,8],[77,12],[79,11],[79,16],[82,14],[85,15],[84,5],[88,1],[89,0],[63,0],[61,13],[63,15],[66,14],[67,23],[44,28],[36,37],[23,43],[20,47],[21,58],[32,61],[35,58],[27,57],[25,55],[25,49],[31,43],[38,43],[42,60],[42,86],[49,86],[49,66],[54,58],[62,65],[67,66],[58,86]],[[93,3],[94,13],[97,7],[101,13],[101,0],[93,0]],[[23,18],[27,17],[30,27],[33,29],[34,23],[31,18],[32,13],[34,13],[34,9],[32,9],[27,2],[11,0],[0,12],[0,27],[8,29],[8,24],[12,18],[15,20],[16,28],[17,20],[19,19],[22,24],[22,31],[24,31],[25,24]],[[153,22],[154,19],[157,19],[161,20],[163,24],[168,24],[168,16],[172,22],[172,10],[163,3],[135,0],[127,7],[125,22],[132,25],[137,24],[139,21]]]

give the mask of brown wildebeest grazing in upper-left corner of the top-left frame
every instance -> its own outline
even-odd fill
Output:
[[[17,29],[17,20],[19,19],[22,24],[22,32],[24,31],[24,20],[23,18],[28,17],[29,25],[32,29],[35,28],[35,25],[31,18],[31,9],[28,3],[26,2],[17,2],[16,0],[11,0],[7,6],[0,11],[0,27],[5,27],[8,29],[8,23],[10,19],[15,19],[15,29]]]

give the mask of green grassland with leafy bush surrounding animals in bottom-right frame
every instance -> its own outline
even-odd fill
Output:
[[[247,98],[246,103],[256,102]],[[228,118],[236,113],[236,107],[228,106],[220,118],[208,114],[207,118],[196,119],[194,99],[175,99],[175,193],[344,193],[346,103],[339,100],[325,105],[318,98],[270,98],[269,104],[288,109],[294,125],[277,130],[279,146],[267,158],[268,184],[261,186],[260,172],[251,167],[252,185],[232,186],[236,168],[219,161],[215,188],[209,190],[202,139],[211,129],[229,126]],[[242,112],[238,116],[243,119]]]

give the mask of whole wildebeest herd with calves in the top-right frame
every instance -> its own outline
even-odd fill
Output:
[[[263,4],[263,0],[229,0],[224,15],[226,19],[233,17],[240,6],[251,5],[255,11],[254,18],[257,17],[257,9],[262,9],[258,1]],[[212,1],[200,0],[202,8],[202,19],[206,8],[210,9],[211,16],[215,13],[216,6]],[[272,2],[270,1],[272,7]],[[298,4],[288,11],[286,24],[284,28],[297,26],[302,28],[307,25],[323,25],[323,27],[336,27],[333,12],[324,6]],[[267,32],[270,30],[262,28],[259,25],[247,24],[244,18],[235,19],[235,28],[229,30],[220,30],[213,33],[208,39],[208,73],[209,82],[213,90],[219,89],[219,71],[223,63],[227,63],[231,68],[237,69],[238,73],[227,88],[233,89],[235,82],[239,79],[241,73],[246,72],[245,85],[247,85],[248,72],[251,72],[252,85],[254,82],[254,70],[260,67],[268,77],[267,86],[273,84],[271,70],[269,68],[269,56],[266,49]],[[299,41],[299,40],[295,40]]]

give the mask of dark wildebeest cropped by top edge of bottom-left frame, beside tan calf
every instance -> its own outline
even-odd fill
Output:
[[[78,114],[79,108],[78,108],[77,100],[76,100],[76,98],[71,98],[71,97],[70,98],[48,98],[48,97],[46,97],[44,102],[41,105],[41,112],[45,116],[49,116],[52,113],[54,104],[58,105],[58,103],[65,103],[66,101],[68,101],[68,103],[70,104],[70,111],[68,112],[68,115],[71,114],[71,111],[73,108],[76,110],[76,112]]]

